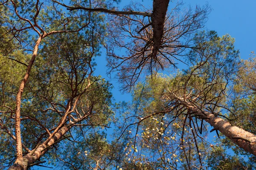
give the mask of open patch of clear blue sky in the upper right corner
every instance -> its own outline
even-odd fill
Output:
[[[193,3],[205,2],[194,0]],[[248,59],[250,52],[256,50],[256,1],[247,0],[243,3],[240,0],[210,0],[208,3],[212,12],[206,28],[217,31],[219,35],[230,34],[236,39],[235,46],[240,50],[241,58]]]

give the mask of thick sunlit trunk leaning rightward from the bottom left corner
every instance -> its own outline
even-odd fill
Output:
[[[36,161],[38,161],[38,159],[47,152],[50,146],[52,146],[52,144],[54,144],[59,139],[61,139],[64,136],[64,134],[67,133],[71,127],[73,127],[73,125],[74,123],[71,122],[68,125],[62,127],[52,137],[52,139],[47,143],[47,145],[46,144],[39,145],[38,148],[35,148],[36,149],[35,152],[34,150],[32,150],[30,153],[23,156],[23,159],[20,159],[20,161],[17,161],[17,162],[15,161],[15,164],[9,167],[8,170],[27,170],[30,164],[34,164]],[[31,153],[33,154],[31,155]]]

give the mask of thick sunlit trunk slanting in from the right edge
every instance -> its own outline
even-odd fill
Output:
[[[215,117],[213,113],[202,112],[199,108],[192,106],[191,103],[186,103],[189,110],[195,112],[199,117],[204,118],[213,127],[213,130],[220,131],[239,147],[256,156],[256,135],[237,126],[232,126],[230,122],[220,117]]]

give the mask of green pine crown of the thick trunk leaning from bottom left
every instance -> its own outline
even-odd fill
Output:
[[[87,89],[77,102],[73,118],[79,119],[92,112],[79,122],[85,125],[83,131],[87,131],[89,125],[104,127],[108,124],[113,115],[110,110],[112,95],[108,82],[101,77],[91,76],[95,65],[93,57],[98,53],[97,46],[92,51],[88,41],[90,39],[87,37],[74,33],[55,35],[45,42],[24,92],[23,116],[33,118],[47,128],[57,126],[65,112],[65,105],[74,102]],[[25,120],[22,123],[23,140],[27,146],[35,147],[33,143],[36,144],[37,134],[42,129],[38,128],[37,123],[30,122]],[[74,138],[78,136],[79,130],[75,130]]]

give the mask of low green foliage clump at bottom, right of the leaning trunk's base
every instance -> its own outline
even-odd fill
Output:
[[[106,141],[106,134],[89,130],[85,135],[81,134],[79,127],[76,130],[80,131],[76,142],[73,139],[61,142],[53,155],[58,162],[56,169],[93,169],[97,163],[100,167],[104,166],[112,153],[109,151],[111,146]]]

